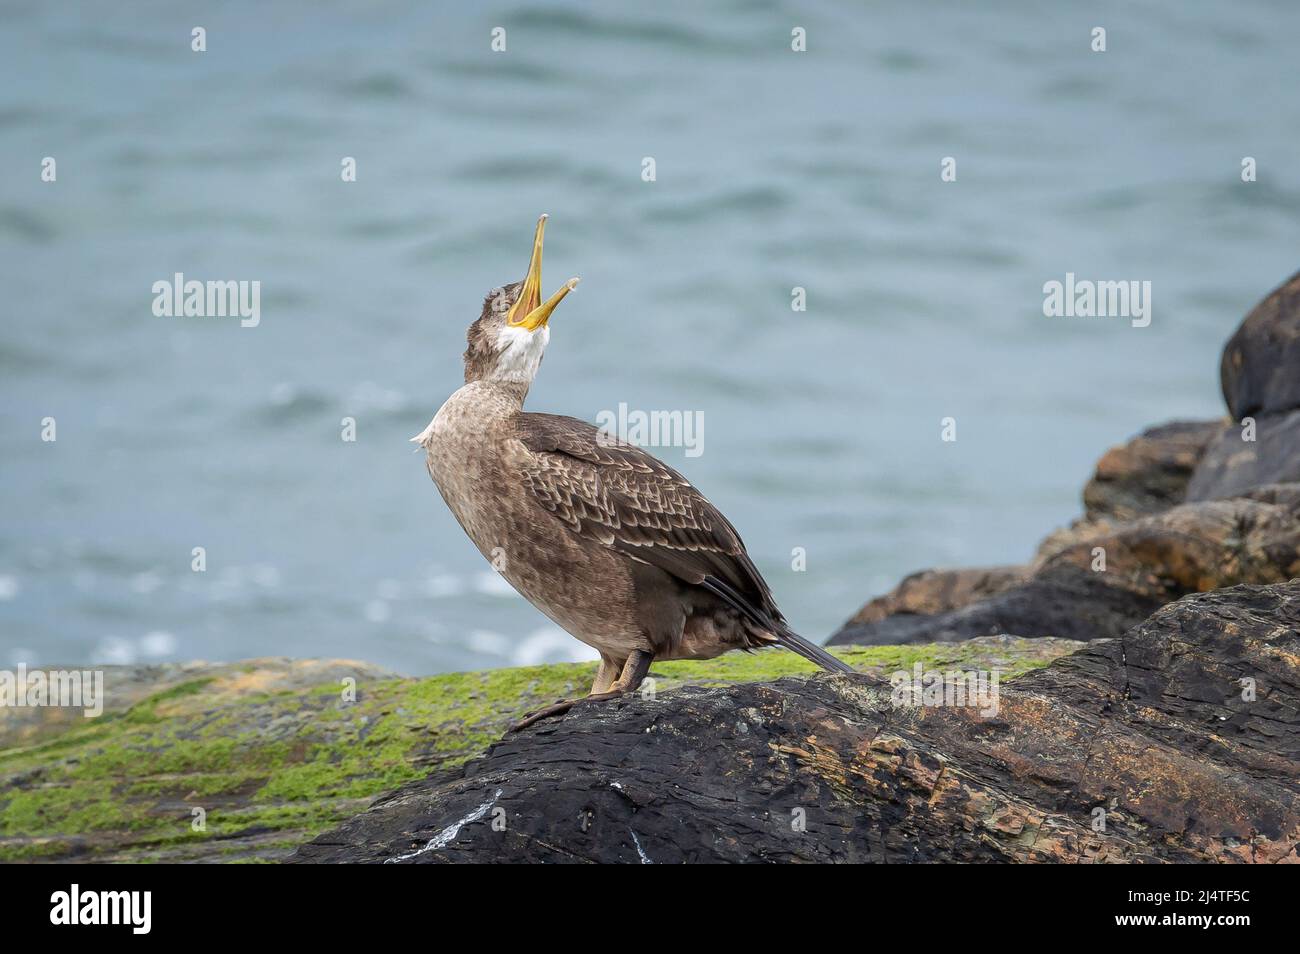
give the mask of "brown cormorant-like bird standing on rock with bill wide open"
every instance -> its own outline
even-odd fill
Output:
[[[547,216],[523,281],[488,294],[469,325],[464,385],[412,442],[469,539],[523,597],[601,658],[580,702],[634,693],[651,662],[781,646],[854,672],[792,630],[736,528],[677,471],[573,417],[524,411],[556,305],[541,299]]]

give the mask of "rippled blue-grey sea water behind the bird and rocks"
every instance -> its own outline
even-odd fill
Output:
[[[0,665],[586,658],[407,443],[540,212],[543,291],[582,285],[529,406],[701,412],[702,455],[655,452],[818,638],[1221,415],[1300,264],[1287,0],[0,10]],[[156,317],[177,272],[260,281],[260,324]],[[1150,325],[1044,317],[1067,272],[1150,281]]]

